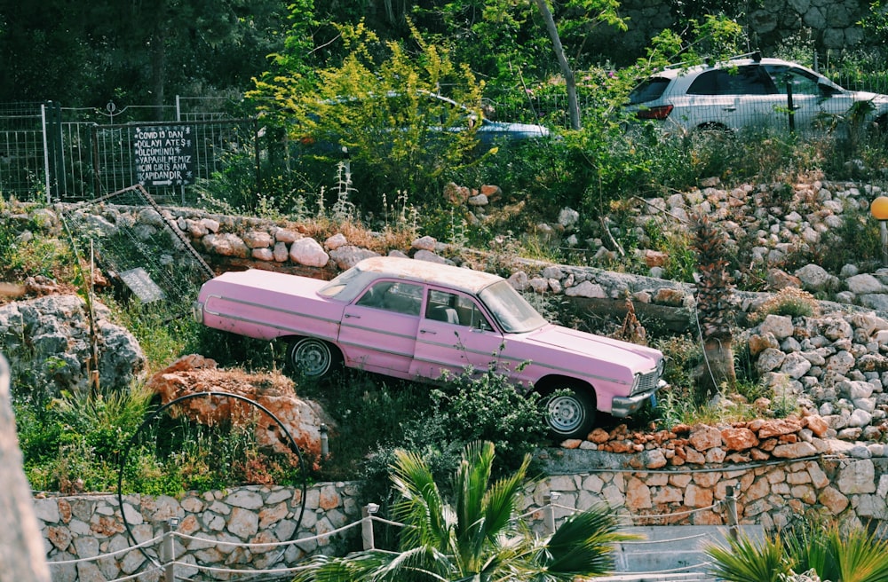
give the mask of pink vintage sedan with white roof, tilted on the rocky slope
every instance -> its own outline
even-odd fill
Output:
[[[343,364],[424,381],[494,367],[525,393],[554,394],[559,438],[584,438],[598,412],[638,411],[663,385],[659,350],[553,325],[496,275],[408,258],[365,259],[329,282],[226,272],[203,285],[194,317],[288,340],[287,365],[306,378]]]

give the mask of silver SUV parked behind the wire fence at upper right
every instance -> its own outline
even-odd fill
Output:
[[[858,127],[876,123],[884,130],[888,96],[845,90],[807,67],[753,53],[716,65],[666,68],[632,90],[629,109],[678,132],[774,128],[810,133],[846,128],[849,122]]]

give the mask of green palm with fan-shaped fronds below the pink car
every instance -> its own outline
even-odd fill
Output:
[[[607,508],[592,507],[568,517],[551,536],[536,537],[515,516],[530,456],[491,484],[493,460],[492,443],[467,444],[448,504],[424,460],[396,452],[392,481],[399,499],[392,514],[404,523],[400,551],[315,556],[296,582],[567,582],[612,570],[612,544],[634,537],[616,531]]]

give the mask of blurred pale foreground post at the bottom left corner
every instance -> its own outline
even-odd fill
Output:
[[[9,384],[9,366],[0,355],[0,579],[50,582],[44,538],[21,464]]]

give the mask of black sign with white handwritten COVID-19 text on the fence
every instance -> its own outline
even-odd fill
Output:
[[[140,185],[194,183],[194,132],[190,126],[136,128],[136,179]]]

